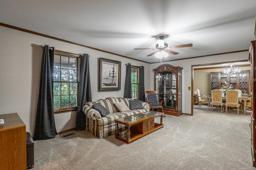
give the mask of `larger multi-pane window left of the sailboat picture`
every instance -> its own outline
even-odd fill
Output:
[[[78,94],[78,58],[54,55],[54,112],[75,110]]]

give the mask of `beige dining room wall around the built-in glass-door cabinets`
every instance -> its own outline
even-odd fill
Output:
[[[239,67],[241,70],[250,70],[250,66]],[[204,69],[204,70],[194,70],[194,91],[198,88],[201,95],[211,94],[211,74],[210,72],[223,72],[224,68],[215,69]],[[250,71],[249,71],[250,75]],[[250,77],[249,77],[250,80]],[[250,86],[249,86],[250,92]]]

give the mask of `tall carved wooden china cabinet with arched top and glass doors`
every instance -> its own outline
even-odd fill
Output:
[[[154,70],[155,90],[158,100],[162,100],[164,113],[182,115],[181,107],[181,72],[182,67],[162,64]]]

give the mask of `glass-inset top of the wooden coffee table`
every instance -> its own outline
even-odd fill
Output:
[[[163,115],[164,113],[161,113],[161,112],[158,112],[158,111],[148,111],[148,112],[140,113],[140,114],[137,114],[137,115],[123,117],[123,118],[118,119],[118,121],[122,121],[122,122],[126,122],[126,123],[132,123],[132,122],[144,119],[146,117],[156,117],[156,116],[161,115],[161,114]]]

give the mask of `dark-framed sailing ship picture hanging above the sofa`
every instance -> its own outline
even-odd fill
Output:
[[[121,62],[99,58],[99,91],[120,90]]]

